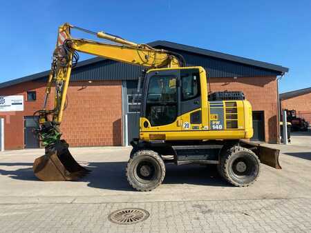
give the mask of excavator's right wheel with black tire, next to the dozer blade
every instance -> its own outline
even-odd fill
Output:
[[[235,145],[220,158],[223,178],[237,187],[246,187],[256,181],[260,172],[260,161],[252,150]]]

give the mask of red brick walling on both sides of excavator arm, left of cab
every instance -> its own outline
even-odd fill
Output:
[[[121,81],[70,83],[68,108],[61,125],[63,138],[71,146],[121,145],[121,88]],[[26,101],[28,90],[37,92],[37,101]],[[23,112],[0,112],[0,117],[5,118],[6,149],[23,148],[23,117],[42,108],[44,90],[45,83],[32,81],[0,89],[0,95],[22,94],[25,100]],[[49,104],[52,103],[53,97]]]

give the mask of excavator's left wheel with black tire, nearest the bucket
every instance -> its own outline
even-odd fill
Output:
[[[126,178],[138,191],[151,191],[157,188],[165,176],[165,165],[157,152],[138,150],[126,166]]]

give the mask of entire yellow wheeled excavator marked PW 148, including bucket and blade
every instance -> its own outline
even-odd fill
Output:
[[[71,30],[95,34],[104,41],[75,39]],[[36,134],[46,154],[35,160],[33,170],[42,181],[77,180],[89,172],[73,159],[59,130],[77,52],[147,68],[142,79],[140,133],[131,141],[133,150],[126,166],[135,190],[150,191],[160,185],[165,163],[215,164],[220,175],[236,186],[253,183],[260,162],[281,169],[279,150],[247,140],[253,135],[252,106],[242,92],[211,93],[204,68],[187,67],[176,52],[64,23],[58,31],[44,108],[35,112],[39,114]],[[47,110],[53,85],[54,108]]]

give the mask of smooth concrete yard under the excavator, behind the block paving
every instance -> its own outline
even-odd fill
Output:
[[[283,169],[262,165],[258,180],[250,187],[229,185],[212,165],[170,164],[164,182],[152,192],[136,192],[126,181],[125,168],[131,148],[70,148],[75,159],[92,170],[88,176],[73,182],[42,182],[35,177],[32,162],[44,150],[1,152],[0,203],[311,198],[310,139],[311,135],[302,134],[292,136],[289,145],[270,145],[281,149]]]

